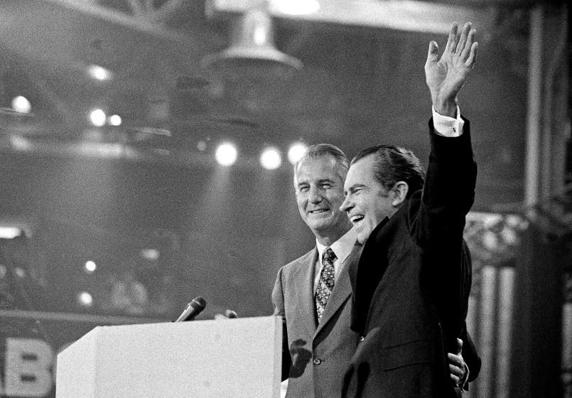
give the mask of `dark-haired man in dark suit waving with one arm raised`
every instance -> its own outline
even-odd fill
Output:
[[[465,333],[470,257],[463,227],[477,173],[457,94],[475,65],[474,39],[470,23],[460,35],[454,23],[441,57],[429,45],[426,178],[411,151],[384,145],[357,154],[347,173],[341,209],[365,245],[350,269],[352,330],[362,337],[343,397],[455,397],[446,353]],[[442,117],[450,118],[444,126]]]

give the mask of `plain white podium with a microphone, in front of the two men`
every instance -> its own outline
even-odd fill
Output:
[[[279,398],[280,317],[98,326],[58,355],[56,398]]]

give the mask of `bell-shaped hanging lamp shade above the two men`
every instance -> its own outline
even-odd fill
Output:
[[[231,45],[215,55],[203,58],[203,67],[226,77],[271,72],[288,77],[301,70],[300,60],[282,53],[274,46],[274,28],[270,14],[250,9],[234,16],[230,32]]]

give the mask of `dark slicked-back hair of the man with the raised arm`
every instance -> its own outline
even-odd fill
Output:
[[[419,158],[409,149],[393,145],[370,146],[357,154],[351,164],[369,155],[375,156],[374,176],[385,189],[390,190],[398,181],[405,181],[409,185],[409,198],[423,188],[425,171]]]

